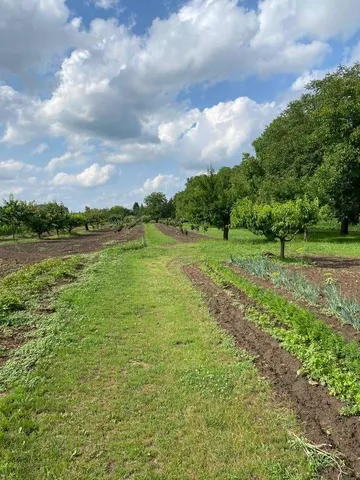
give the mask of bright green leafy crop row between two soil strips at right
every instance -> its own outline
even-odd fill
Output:
[[[254,285],[218,262],[207,272],[218,284],[231,283],[264,307],[248,312],[282,346],[302,362],[302,371],[327,386],[331,395],[346,403],[344,414],[360,413],[360,349],[347,342],[312,312],[298,307],[268,289]],[[280,326],[279,326],[280,323]]]

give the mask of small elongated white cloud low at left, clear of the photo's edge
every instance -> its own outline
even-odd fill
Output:
[[[77,186],[77,187],[95,187],[104,185],[115,174],[113,165],[104,165],[100,167],[98,163],[94,163],[81,173],[69,174],[58,173],[52,180],[53,185],[57,186]]]

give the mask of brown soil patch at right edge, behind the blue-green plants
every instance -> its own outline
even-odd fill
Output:
[[[330,276],[339,285],[341,292],[360,303],[360,259],[344,257],[309,256],[311,265],[290,266],[311,282],[324,285]]]

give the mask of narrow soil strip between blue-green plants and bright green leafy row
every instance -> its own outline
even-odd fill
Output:
[[[238,273],[242,277],[250,280],[252,283],[258,285],[262,288],[267,288],[272,290],[273,292],[281,295],[282,297],[289,300],[291,303],[298,305],[301,308],[305,308],[306,310],[310,310],[313,312],[318,318],[320,318],[324,323],[330,325],[337,333],[340,333],[346,340],[351,341],[354,340],[360,343],[360,332],[356,330],[352,325],[344,325],[340,322],[340,320],[332,315],[325,315],[321,311],[321,305],[309,305],[305,301],[300,300],[290,292],[283,288],[276,287],[270,280],[264,280],[262,278],[256,277],[255,275],[251,275],[250,273],[246,272],[240,267],[236,267],[235,265],[227,264],[229,268],[231,268],[234,272]]]

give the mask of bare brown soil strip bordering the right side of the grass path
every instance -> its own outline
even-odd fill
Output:
[[[204,296],[210,313],[235,338],[236,345],[255,357],[261,375],[270,380],[278,397],[289,405],[303,424],[306,437],[313,443],[329,445],[329,450],[341,452],[351,469],[347,478],[360,474],[360,422],[358,417],[339,414],[341,403],[331,397],[325,387],[311,385],[298,375],[300,362],[280,344],[248,322],[242,310],[234,304],[254,305],[245,294],[229,287],[228,293],[215,285],[195,266],[184,267],[184,272]],[[337,471],[327,471],[326,478],[338,478]]]

